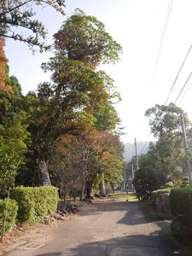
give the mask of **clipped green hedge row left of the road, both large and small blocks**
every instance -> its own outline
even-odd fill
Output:
[[[15,188],[9,200],[0,200],[0,229],[5,216],[5,232],[9,232],[16,221],[32,224],[48,217],[56,211],[57,203],[55,187]]]

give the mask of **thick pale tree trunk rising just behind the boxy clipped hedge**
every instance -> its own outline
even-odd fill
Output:
[[[45,160],[38,160],[38,175],[39,175],[39,184],[41,186],[51,186],[48,166]]]

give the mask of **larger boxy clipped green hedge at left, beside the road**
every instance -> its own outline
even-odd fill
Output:
[[[17,187],[10,197],[18,203],[18,220],[36,223],[56,211],[58,190],[55,187]]]

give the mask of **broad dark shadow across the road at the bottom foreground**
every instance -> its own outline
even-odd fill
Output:
[[[69,248],[67,251],[41,253],[37,256],[171,256],[174,248],[158,237],[157,233],[149,236],[123,236],[107,241],[96,241]]]

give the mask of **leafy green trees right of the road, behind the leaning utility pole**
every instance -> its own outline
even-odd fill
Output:
[[[176,186],[183,183],[187,171],[181,113],[183,110],[173,103],[155,105],[146,111],[156,141],[150,143],[148,153],[140,157],[139,170],[133,180],[137,195],[142,199],[148,198],[156,189],[165,188],[166,183],[172,182]],[[189,133],[189,119],[185,113],[183,115]]]

